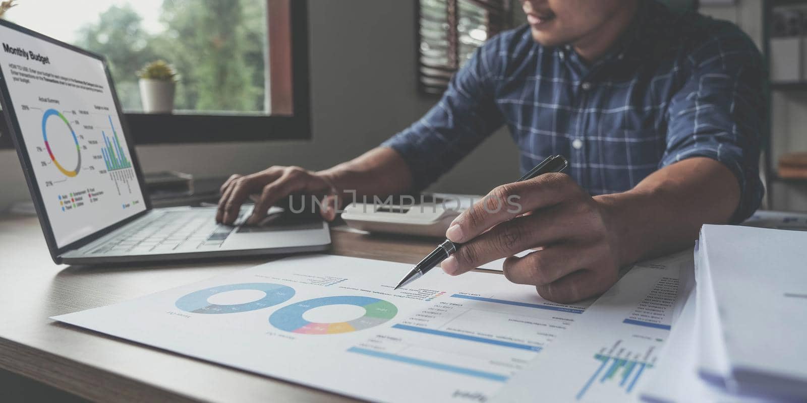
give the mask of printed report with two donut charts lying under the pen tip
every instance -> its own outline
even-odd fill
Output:
[[[372,401],[487,401],[562,338],[562,305],[504,276],[343,256],[276,260],[54,319]]]

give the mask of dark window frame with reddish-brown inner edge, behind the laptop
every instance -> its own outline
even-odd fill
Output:
[[[267,23],[288,15],[287,27],[267,29],[270,55],[291,56],[291,65],[270,70],[267,81],[291,75],[291,114],[289,104],[278,100],[289,97],[288,85],[270,85],[267,96],[276,114],[145,114],[124,113],[129,136],[136,145],[226,143],[269,140],[312,139],[311,95],[308,56],[308,0],[266,0]],[[270,15],[278,10],[278,15]],[[287,29],[286,29],[287,28]],[[289,38],[291,36],[291,38]],[[291,39],[291,43],[288,39]],[[272,46],[274,45],[274,46]],[[291,48],[289,46],[291,45]],[[268,67],[268,66],[267,66]],[[286,76],[287,77],[287,76]],[[281,81],[282,82],[282,81]],[[0,119],[0,149],[14,148],[5,119]]]

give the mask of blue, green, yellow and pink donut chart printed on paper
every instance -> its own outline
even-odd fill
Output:
[[[303,319],[307,310],[325,305],[356,305],[365,309],[361,318],[348,322],[316,323]],[[390,302],[372,297],[340,296],[321,297],[287,305],[269,317],[272,326],[299,334],[337,334],[367,329],[387,322],[398,314],[398,308]]]

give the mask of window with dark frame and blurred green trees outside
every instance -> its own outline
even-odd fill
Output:
[[[106,56],[136,143],[310,136],[305,1],[26,0],[6,18]],[[180,77],[173,114],[143,112],[154,60]]]

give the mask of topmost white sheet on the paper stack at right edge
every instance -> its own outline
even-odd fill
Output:
[[[807,233],[705,225],[730,388],[807,398]]]

